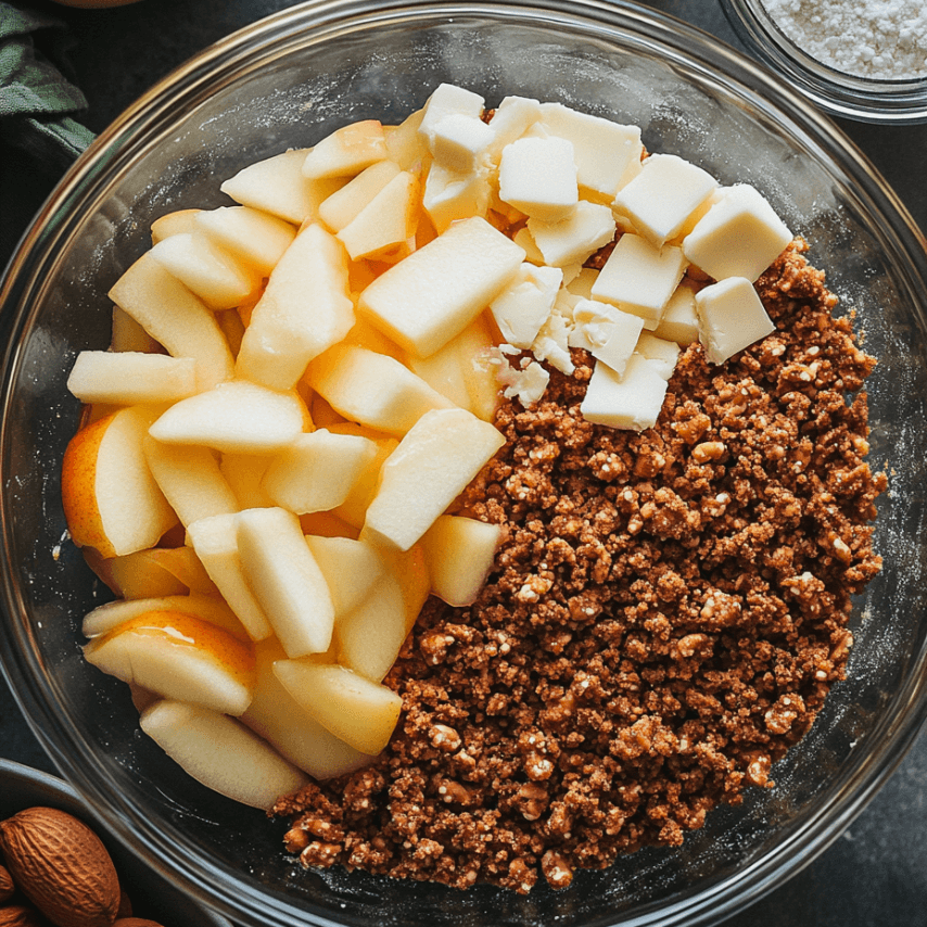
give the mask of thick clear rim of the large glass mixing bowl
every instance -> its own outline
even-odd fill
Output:
[[[487,18],[521,17],[525,22],[572,24],[595,29],[602,39],[614,40],[631,34],[645,38],[653,46],[674,55],[677,61],[694,62],[723,73],[737,81],[738,89],[759,87],[763,103],[772,107],[777,116],[803,136],[810,138],[836,161],[847,175],[860,185],[876,212],[891,220],[892,232],[901,239],[901,246],[911,258],[905,268],[915,282],[927,291],[927,240],[917,229],[903,204],[888,187],[878,172],[846,136],[828,119],[822,118],[800,93],[793,92],[774,73],[758,66],[739,52],[697,27],[649,8],[642,8],[630,0],[513,0],[500,4],[492,2],[431,2],[431,0],[325,0],[305,2],[283,10],[267,18],[246,26],[196,54],[186,64],[167,75],[147,93],[129,106],[88,149],[65,175],[37,215],[34,225],[24,236],[20,247],[8,268],[0,285],[0,305],[9,306],[0,314],[3,334],[11,335],[2,364],[2,411],[0,421],[0,447],[9,442],[7,415],[10,409],[11,372],[15,370],[22,335],[31,325],[31,297],[40,290],[41,270],[50,261],[59,242],[66,240],[73,227],[75,206],[92,200],[101,185],[111,181],[112,175],[129,157],[137,157],[144,150],[145,141],[156,140],[170,125],[173,114],[183,104],[201,99],[208,93],[217,80],[229,79],[247,73],[266,60],[271,50],[280,51],[290,43],[320,30],[340,29],[350,25],[372,28],[378,22],[398,18],[424,20],[443,16],[485,16]],[[325,33],[327,35],[327,33]],[[322,36],[325,37],[325,36]],[[749,78],[749,82],[746,79]],[[68,220],[69,217],[69,220]],[[36,304],[40,302],[36,299]],[[16,307],[15,314],[11,312]],[[5,460],[5,456],[3,457]],[[0,461],[2,466],[2,461]],[[2,503],[0,503],[2,504]],[[3,541],[9,542],[12,526],[9,513],[0,511]],[[170,880],[228,917],[245,916],[249,923],[283,927],[293,923],[297,913],[303,923],[331,925],[335,922],[310,911],[306,906],[293,907],[285,901],[268,897],[264,891],[233,885],[234,873],[218,867],[205,859],[195,859],[195,871],[190,859],[178,859],[177,847],[165,840],[145,822],[135,808],[128,808],[120,797],[107,795],[97,779],[85,770],[75,757],[72,733],[65,729],[49,710],[43,697],[41,663],[29,650],[30,634],[20,619],[22,602],[15,589],[15,564],[11,561],[12,545],[4,543],[0,572],[7,622],[0,627],[9,636],[4,643],[0,662],[24,714],[36,736],[49,752],[63,776],[104,821],[110,833],[129,847],[149,864],[164,872]],[[18,648],[18,649],[16,649]],[[753,903],[786,878],[795,875],[822,853],[863,810],[878,788],[888,778],[927,720],[927,645],[914,661],[917,672],[905,681],[903,691],[894,699],[891,713],[891,737],[887,737],[884,749],[869,755],[848,783],[843,792],[826,807],[815,809],[796,828],[787,840],[750,865],[738,869],[700,891],[691,890],[682,899],[665,905],[651,903],[640,913],[618,923],[638,925],[685,925],[702,924],[723,919]],[[28,672],[13,662],[12,655],[21,652]],[[66,745],[71,749],[65,749]],[[114,800],[115,798],[115,800]],[[186,867],[180,868],[179,864]],[[232,889],[236,891],[233,892]],[[306,919],[310,918],[310,919]]]

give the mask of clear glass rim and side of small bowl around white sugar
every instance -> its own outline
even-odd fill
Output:
[[[826,113],[863,123],[927,122],[927,76],[877,80],[837,71],[786,36],[762,0],[721,0],[721,5],[748,51]]]

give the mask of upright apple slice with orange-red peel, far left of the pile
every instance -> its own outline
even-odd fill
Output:
[[[177,516],[151,475],[142,442],[161,407],[130,406],[81,429],[64,452],[61,496],[72,539],[103,557],[156,544]]]

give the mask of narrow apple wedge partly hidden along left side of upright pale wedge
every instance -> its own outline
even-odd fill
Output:
[[[270,622],[247,584],[238,553],[238,516],[204,518],[191,522],[187,531],[193,550],[252,639],[268,637]]]

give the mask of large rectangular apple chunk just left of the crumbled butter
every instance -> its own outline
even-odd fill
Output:
[[[381,274],[358,310],[406,351],[428,357],[459,334],[501,292],[524,251],[475,216]]]

